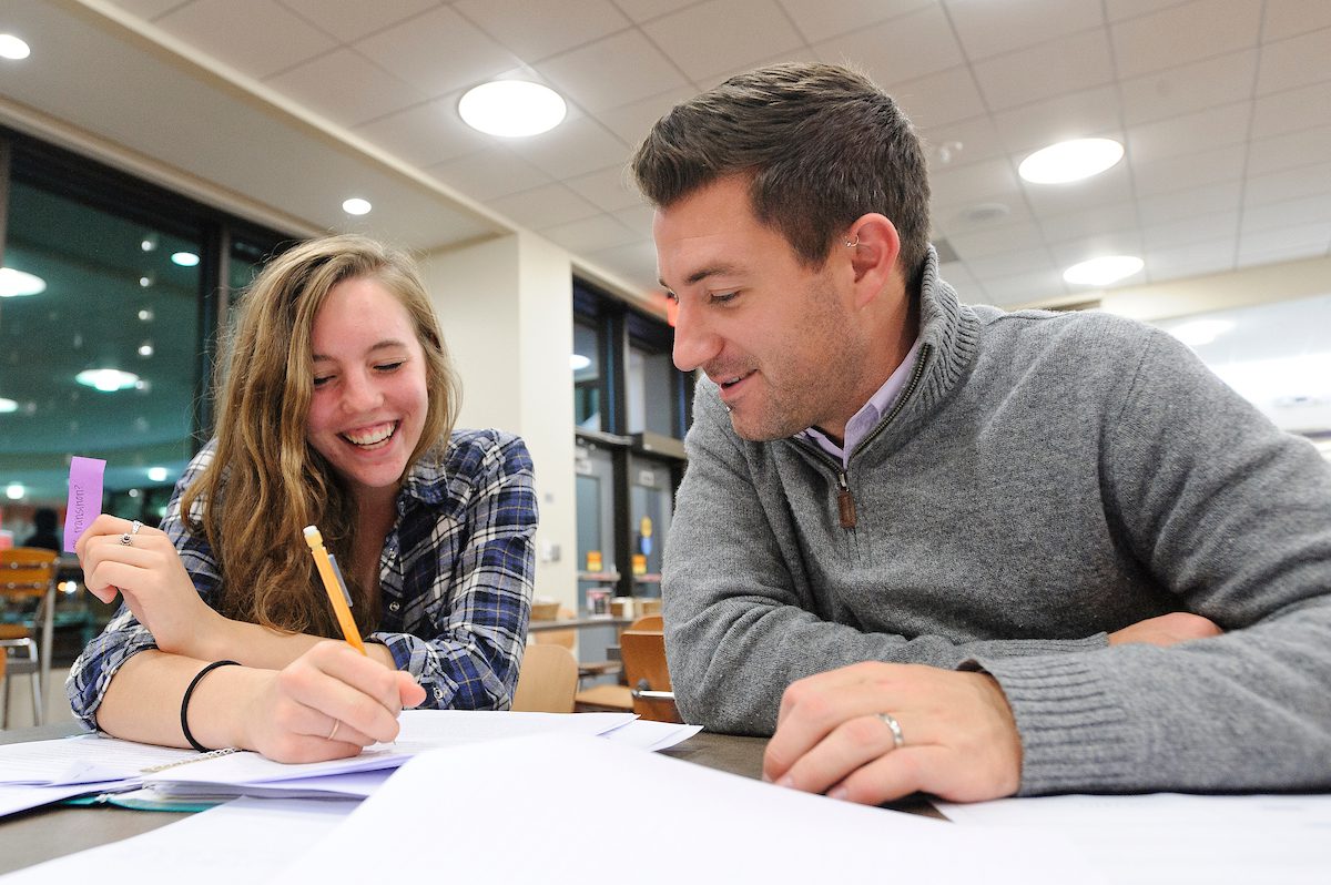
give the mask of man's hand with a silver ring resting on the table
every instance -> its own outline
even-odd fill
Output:
[[[904,745],[894,745],[878,713],[897,720]],[[785,689],[763,776],[869,805],[914,792],[998,798],[1021,784],[1021,739],[992,676],[853,664]]]

